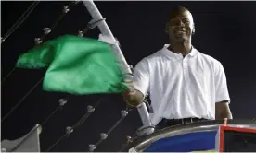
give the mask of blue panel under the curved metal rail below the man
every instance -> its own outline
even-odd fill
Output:
[[[162,138],[145,152],[191,152],[215,149],[217,131],[197,132]]]

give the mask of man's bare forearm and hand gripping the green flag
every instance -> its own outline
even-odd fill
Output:
[[[124,100],[129,106],[136,107],[142,103],[143,94],[134,88],[134,82],[132,80],[124,80],[123,84],[128,88],[128,91],[122,93]]]

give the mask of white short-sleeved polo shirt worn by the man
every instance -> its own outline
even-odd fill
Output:
[[[168,46],[134,68],[134,88],[150,93],[152,124],[162,118],[215,119],[215,102],[230,101],[223,65],[195,48],[184,58]]]

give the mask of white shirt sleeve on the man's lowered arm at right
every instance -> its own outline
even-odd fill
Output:
[[[221,102],[228,100],[230,102],[230,97],[228,93],[226,76],[224,73],[223,65],[218,62],[215,68],[215,102]]]

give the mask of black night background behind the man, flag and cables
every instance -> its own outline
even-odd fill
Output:
[[[14,67],[20,53],[34,45],[34,38],[43,34],[61,14],[63,6],[71,2],[40,2],[32,15],[1,45],[2,78]],[[32,2],[1,2],[1,36],[15,23]],[[256,3],[255,2],[96,2],[107,18],[109,28],[122,45],[127,62],[135,65],[143,57],[161,49],[168,43],[163,31],[168,12],[173,6],[186,6],[196,23],[193,45],[201,53],[218,59],[223,65],[231,97],[230,108],[235,119],[256,118]],[[72,7],[46,40],[63,34],[77,34],[90,21],[83,3]],[[97,38],[93,29],[86,37]],[[45,41],[46,41],[45,40]],[[44,76],[45,70],[17,69],[2,82],[2,117]],[[19,109],[2,124],[1,139],[16,139],[27,134],[34,124],[58,107],[58,99],[67,95],[42,91],[41,84],[22,102]],[[121,95],[69,96],[68,104],[43,126],[41,149],[45,151],[65,127],[75,124],[86,113],[88,104],[105,97],[88,120],[69,138],[61,141],[52,151],[88,151],[99,134],[120,119],[125,109]],[[114,132],[96,151],[117,151],[140,127],[137,111],[130,112]]]

